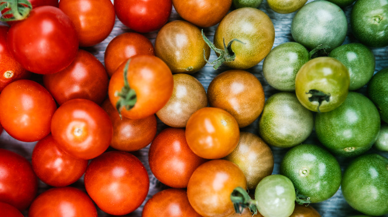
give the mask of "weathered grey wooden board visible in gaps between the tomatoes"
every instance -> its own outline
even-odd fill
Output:
[[[113,0],[112,0],[113,1]],[[308,0],[307,2],[310,2],[312,0]],[[232,8],[233,9],[233,8]],[[295,12],[290,13],[290,14],[279,14],[274,12],[272,9],[269,8],[267,4],[267,0],[263,0],[261,5],[259,6],[259,9],[263,10],[273,21],[274,26],[275,26],[275,43],[274,47],[278,46],[279,44],[285,43],[285,42],[290,42],[293,41],[292,36],[291,36],[291,20],[292,17],[295,15]],[[349,15],[351,12],[351,6],[348,6],[344,8],[344,12],[348,18],[348,23],[349,23]],[[181,19],[180,16],[176,13],[175,9],[173,8],[172,14],[170,16],[169,22],[173,20]],[[216,26],[210,27],[210,28],[205,28],[204,32],[206,36],[212,41],[213,40],[213,35],[214,31],[216,29]],[[111,34],[100,44],[89,47],[89,48],[81,48],[84,50],[87,50],[94,54],[102,63],[104,63],[104,51],[108,43],[117,35],[124,33],[124,32],[129,32],[131,31],[127,27],[125,27],[117,18],[115,25],[113,27],[113,30]],[[144,34],[147,38],[151,40],[151,42],[154,44],[155,42],[155,37],[157,35],[157,31],[151,32]],[[357,42],[357,40],[352,36],[351,34],[351,28],[349,24],[348,28],[348,34],[345,39],[344,44],[352,43],[352,42]],[[379,49],[372,49],[373,53],[375,54],[376,57],[376,69],[375,73],[383,68],[388,67],[388,50],[386,48],[379,48]],[[216,55],[214,52],[211,53],[210,55],[210,60],[216,59]],[[268,85],[266,80],[264,79],[263,73],[262,73],[262,66],[263,66],[263,61],[261,61],[258,65],[255,67],[252,67],[248,69],[247,71],[251,72],[254,74],[262,83],[263,88],[265,90],[265,95],[266,99],[273,95],[274,93],[277,93],[274,88]],[[214,70],[211,65],[206,64],[205,67],[203,67],[200,71],[192,74],[195,78],[197,78],[202,85],[204,86],[205,90],[207,90],[207,87],[210,83],[210,81],[219,73],[228,70],[229,68],[225,66],[221,66],[219,69]],[[363,94],[366,93],[366,88],[361,88],[358,90],[358,92],[361,92]],[[257,126],[258,120],[253,122],[251,125],[244,127],[241,129],[241,131],[247,131],[251,133],[257,134],[258,131],[258,126]],[[158,120],[158,132],[160,132],[162,129],[165,129],[167,126],[163,124],[160,120]],[[310,137],[304,142],[304,143],[312,143],[312,144],[319,144],[319,141],[316,138],[316,135],[314,132],[310,135]],[[0,148],[5,148],[11,151],[14,151],[18,154],[21,154],[25,158],[27,158],[29,161],[31,161],[31,153],[33,150],[33,147],[35,145],[35,142],[32,143],[25,143],[25,142],[20,142],[17,141],[13,138],[11,138],[5,131],[2,132],[0,136]],[[275,167],[274,167],[274,174],[279,174],[279,165],[282,161],[282,158],[284,154],[289,150],[289,149],[281,149],[281,148],[276,148],[276,147],[271,147],[274,158],[275,158]],[[137,156],[142,163],[147,167],[147,171],[149,173],[150,177],[150,188],[149,188],[149,193],[142,204],[141,207],[139,207],[136,211],[134,211],[131,214],[125,215],[125,217],[141,217],[141,212],[142,208],[145,204],[145,202],[152,197],[155,193],[162,189],[168,188],[164,184],[160,183],[155,176],[153,176],[152,172],[149,169],[149,164],[148,164],[148,149],[149,146],[146,148],[132,152],[135,156]],[[111,149],[108,149],[111,150]],[[376,150],[371,149],[369,152],[371,153],[376,153]],[[388,153],[382,153],[380,152],[379,154],[385,156],[388,158]],[[349,160],[347,159],[341,159],[337,158],[338,161],[341,164],[342,170],[346,168],[346,166],[349,163]],[[72,184],[71,186],[80,188],[85,191],[85,187],[83,185],[83,177],[78,180],[76,183]],[[43,182],[39,182],[39,192],[42,193],[43,191],[49,189],[50,186],[44,184]],[[136,197],[136,195],[134,195]],[[387,202],[388,203],[388,202]],[[361,213],[355,211],[352,209],[345,201],[345,199],[342,196],[341,189],[337,191],[337,193],[330,199],[317,203],[317,204],[312,204],[313,206],[322,217],[348,217],[352,215],[359,215]],[[24,211],[23,214],[27,216],[27,211]],[[98,210],[98,216],[99,217],[111,217],[110,215],[107,215],[106,213]],[[388,217],[388,215],[386,215]]]

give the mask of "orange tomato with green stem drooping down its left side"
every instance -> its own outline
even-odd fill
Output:
[[[126,65],[128,69],[124,72]],[[152,55],[136,55],[112,75],[108,95],[122,116],[139,119],[162,109],[173,94],[173,88],[173,74],[163,60]]]

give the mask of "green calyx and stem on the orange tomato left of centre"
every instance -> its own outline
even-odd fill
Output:
[[[127,74],[128,74],[128,67],[129,62],[131,60],[128,59],[128,61],[125,64],[123,75],[124,75],[124,86],[121,89],[121,92],[116,91],[114,93],[114,96],[119,97],[117,103],[116,103],[116,109],[120,115],[121,118],[121,109],[124,107],[127,110],[132,109],[135,106],[135,103],[137,101],[136,92],[131,87],[129,87]]]

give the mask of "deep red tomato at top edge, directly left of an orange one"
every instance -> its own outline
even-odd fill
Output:
[[[117,18],[136,32],[151,32],[167,23],[171,0],[114,0]]]

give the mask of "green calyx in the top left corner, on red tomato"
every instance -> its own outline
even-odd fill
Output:
[[[32,5],[28,0],[1,0],[0,11],[2,11],[2,14],[0,20],[3,22],[23,20],[31,10]]]

